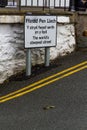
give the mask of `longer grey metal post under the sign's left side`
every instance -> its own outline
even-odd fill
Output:
[[[31,75],[31,49],[26,50],[26,76]]]

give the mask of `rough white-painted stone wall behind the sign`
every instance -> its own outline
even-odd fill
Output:
[[[23,17],[15,17],[15,24],[11,17],[7,18],[8,20],[4,17],[7,22],[1,19],[5,24],[0,24],[0,83],[24,70],[26,65],[24,24],[19,24],[23,22]],[[69,17],[60,16],[57,22],[57,46],[50,48],[50,60],[73,52],[76,45],[75,29],[74,25],[70,24]],[[32,49],[32,65],[43,62],[44,48]]]

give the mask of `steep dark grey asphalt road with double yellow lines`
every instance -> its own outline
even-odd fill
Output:
[[[22,74],[0,86],[0,130],[86,129],[86,51],[57,59],[49,68],[37,66],[31,77]]]

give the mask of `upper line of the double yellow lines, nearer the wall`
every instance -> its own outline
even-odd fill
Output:
[[[15,95],[15,94],[17,94],[17,93],[20,93],[20,92],[22,92],[22,91],[25,91],[25,90],[27,90],[27,89],[30,89],[30,88],[32,88],[32,87],[34,87],[34,86],[36,86],[36,85],[39,85],[39,84],[41,84],[41,83],[43,83],[43,82],[45,82],[45,81],[47,81],[47,80],[50,80],[50,79],[52,79],[52,78],[55,78],[56,76],[59,76],[59,75],[61,75],[61,74],[64,74],[64,73],[66,73],[66,72],[68,72],[68,71],[71,71],[71,70],[73,70],[73,69],[76,69],[76,68],[81,67],[81,66],[86,65],[86,64],[87,64],[87,61],[84,61],[84,62],[82,62],[82,63],[80,63],[80,64],[77,64],[77,65],[75,65],[75,66],[73,66],[73,67],[70,67],[70,68],[65,69],[65,70],[63,70],[63,71],[61,71],[61,72],[58,72],[58,73],[56,73],[56,74],[54,74],[54,75],[51,75],[51,76],[49,76],[49,77],[47,77],[47,78],[44,78],[44,79],[42,79],[42,80],[39,80],[39,81],[37,81],[37,82],[35,82],[35,83],[31,84],[31,85],[28,85],[27,87],[24,87],[24,88],[19,89],[19,90],[15,91],[15,92],[12,92],[12,93],[9,93],[9,94],[7,94],[7,95],[5,95],[5,96],[2,96],[2,97],[0,97],[0,100],[1,100],[1,99],[4,99],[4,98],[7,98],[7,97],[9,97],[9,96],[13,96],[13,95]]]

